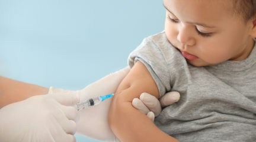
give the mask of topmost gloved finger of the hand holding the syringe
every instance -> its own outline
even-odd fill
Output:
[[[79,96],[77,94],[63,94],[63,93],[53,93],[53,94],[47,94],[46,97],[53,98],[59,104],[65,105],[65,106],[72,106],[79,102]]]

